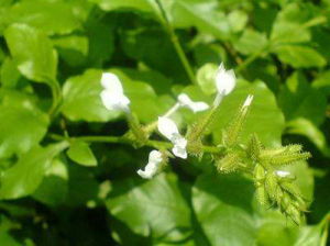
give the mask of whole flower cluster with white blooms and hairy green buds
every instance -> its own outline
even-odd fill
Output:
[[[240,143],[240,136],[248,118],[253,96],[249,94],[232,120],[222,133],[222,144],[206,146],[204,136],[220,109],[226,96],[231,93],[237,85],[233,70],[226,70],[221,64],[215,74],[217,94],[212,105],[201,101],[193,101],[188,94],[180,93],[177,102],[157,121],[146,126],[141,126],[139,120],[130,110],[130,99],[124,94],[120,79],[111,72],[105,72],[101,78],[103,90],[100,93],[102,103],[108,110],[121,111],[127,116],[130,131],[125,134],[136,147],[147,145],[154,131],[164,136],[168,142],[166,146],[153,146],[148,155],[148,161],[144,169],[139,169],[138,175],[144,179],[151,179],[157,175],[167,163],[168,157],[186,159],[188,155],[212,156],[215,166],[219,172],[240,171],[252,175],[256,187],[256,194],[262,204],[277,204],[284,214],[294,222],[300,223],[301,213],[306,210],[305,201],[294,185],[294,176],[282,166],[310,157],[309,153],[301,152],[300,145],[289,145],[280,148],[265,148],[254,134],[250,142]],[[186,108],[194,113],[208,111],[193,125],[189,125],[186,134],[182,134],[172,115],[180,108]],[[136,144],[138,143],[138,144]],[[172,154],[170,154],[170,152]]]

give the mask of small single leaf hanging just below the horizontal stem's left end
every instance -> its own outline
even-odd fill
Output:
[[[97,166],[97,159],[95,158],[89,145],[81,141],[75,141],[70,144],[67,150],[68,157],[77,164],[86,167]]]

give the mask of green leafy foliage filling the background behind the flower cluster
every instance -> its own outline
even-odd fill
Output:
[[[327,245],[330,1],[161,2],[167,20],[154,0],[0,1],[0,245]],[[182,91],[211,102],[221,62],[239,85],[212,141],[253,93],[242,141],[257,133],[266,146],[312,153],[290,167],[310,203],[300,227],[258,205],[249,178],[216,174],[207,157],[170,160],[145,181],[136,170],[150,148],[58,136],[127,131],[101,104],[102,71],[120,77],[150,123]],[[185,126],[195,116],[175,118]]]

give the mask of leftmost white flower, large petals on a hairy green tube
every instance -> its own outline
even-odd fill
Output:
[[[105,89],[101,91],[100,97],[103,105],[108,110],[120,110],[124,112],[130,110],[130,99],[124,96],[121,82],[114,74],[103,72],[101,85]]]

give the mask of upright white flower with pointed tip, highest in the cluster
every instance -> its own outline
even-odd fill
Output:
[[[217,74],[216,74],[216,86],[218,93],[229,94],[237,85],[237,77],[234,71],[226,70],[223,63],[220,64]]]

